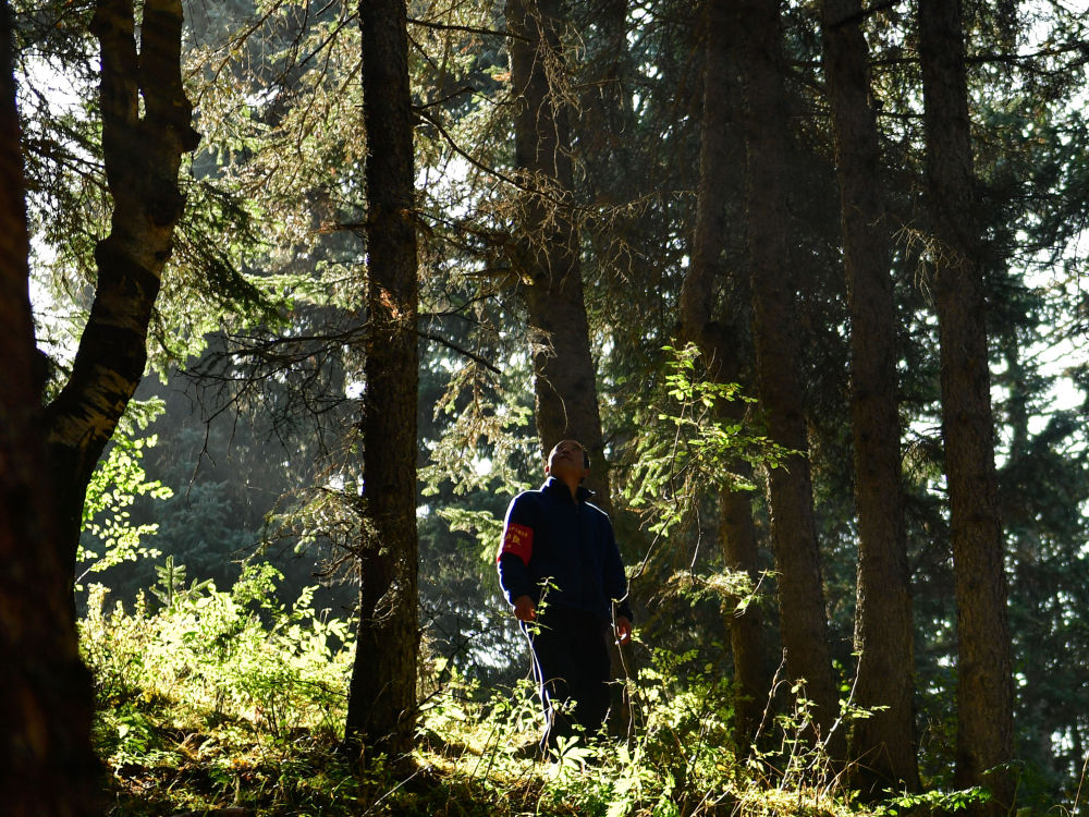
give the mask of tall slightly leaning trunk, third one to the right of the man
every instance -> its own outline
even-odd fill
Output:
[[[824,74],[840,180],[851,314],[851,417],[858,509],[855,703],[873,715],[852,728],[855,782],[879,794],[919,788],[911,599],[896,406],[896,308],[877,122],[869,105],[859,0],[823,0]]]

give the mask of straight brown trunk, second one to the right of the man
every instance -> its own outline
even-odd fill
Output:
[[[839,712],[828,644],[807,430],[798,371],[795,283],[786,243],[787,135],[784,65],[776,0],[743,0],[746,32],[737,38],[745,90],[748,265],[752,290],[757,381],[771,439],[798,453],[769,476],[771,538],[779,573],[779,610],[786,672],[805,679],[815,705],[810,737],[827,740]],[[830,745],[841,756],[840,737]]]

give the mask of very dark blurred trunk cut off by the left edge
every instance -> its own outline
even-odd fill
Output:
[[[12,817],[100,813],[90,673],[45,460],[11,17],[0,2],[0,797]]]

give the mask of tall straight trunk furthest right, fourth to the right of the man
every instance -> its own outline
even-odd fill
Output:
[[[959,2],[919,0],[919,59],[957,601],[954,780],[988,785],[984,810],[1005,814],[1008,773],[988,773],[1013,758],[1013,682]]]

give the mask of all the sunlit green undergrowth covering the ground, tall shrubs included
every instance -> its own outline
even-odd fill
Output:
[[[523,757],[540,725],[528,682],[485,691],[454,678],[425,699],[408,763],[346,757],[350,629],[317,614],[308,592],[271,601],[278,581],[250,566],[230,592],[171,587],[157,610],[140,600],[132,612],[106,612],[93,588],[82,638],[109,814],[846,817],[958,802],[864,807],[821,746],[798,740],[804,705],[769,717],[761,748],[738,753],[726,684],[665,650],[627,684],[624,739],[580,735],[550,761]]]

